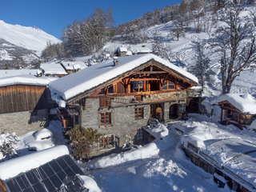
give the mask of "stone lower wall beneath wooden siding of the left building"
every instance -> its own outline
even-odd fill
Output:
[[[32,113],[30,111],[22,111],[0,114],[0,119],[1,134],[15,132],[18,136],[30,131],[42,130],[49,124],[47,110],[38,110]]]

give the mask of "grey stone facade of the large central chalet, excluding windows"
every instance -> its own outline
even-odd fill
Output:
[[[122,97],[127,100],[134,99],[134,96]],[[168,102],[165,101],[170,98],[177,98]],[[125,143],[136,141],[137,130],[142,126],[146,126],[150,118],[150,102],[158,101],[162,106],[162,122],[170,121],[169,109],[171,105],[177,105],[177,117],[182,115],[186,110],[186,91],[178,91],[173,93],[151,94],[143,98],[143,103],[134,106],[120,106],[118,102],[111,102],[111,108],[101,108],[99,106],[99,98],[86,98],[86,110],[82,110],[81,123],[85,128],[93,128],[98,130],[102,135],[114,134],[115,136],[115,150],[112,152],[120,152]],[[148,104],[147,104],[148,103]],[[114,107],[118,106],[118,107]],[[143,108],[143,118],[135,118],[134,110],[136,108]],[[102,128],[100,126],[100,113],[111,112],[112,122],[111,126]],[[97,153],[94,153],[97,154]],[[98,154],[101,154],[99,151]]]

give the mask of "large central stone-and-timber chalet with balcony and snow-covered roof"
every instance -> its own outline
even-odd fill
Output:
[[[160,122],[186,110],[190,87],[198,78],[154,54],[114,58],[50,82],[64,127],[97,129],[98,151],[120,151],[128,138],[141,143],[150,117]],[[139,138],[139,139],[138,139]]]

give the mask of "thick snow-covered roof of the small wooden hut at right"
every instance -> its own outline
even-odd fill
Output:
[[[251,94],[222,94],[215,98],[211,104],[230,102],[242,113],[256,114],[256,99]]]

